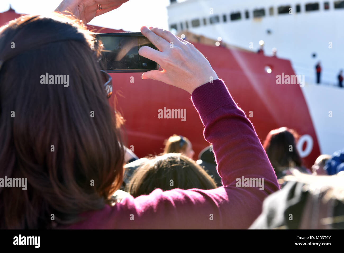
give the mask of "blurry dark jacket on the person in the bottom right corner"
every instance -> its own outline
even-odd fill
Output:
[[[289,181],[282,190],[264,200],[263,211],[250,229],[344,229],[344,203],[331,198],[327,191],[311,192],[309,185]]]

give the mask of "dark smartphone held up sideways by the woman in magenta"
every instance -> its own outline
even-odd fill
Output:
[[[147,72],[159,65],[139,55],[142,46],[158,50],[142,33],[98,33],[97,40],[104,45],[101,61],[108,73]]]

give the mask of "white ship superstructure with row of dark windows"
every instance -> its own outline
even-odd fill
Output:
[[[321,83],[337,84],[344,69],[344,1],[187,0],[168,7],[169,27],[189,30],[225,43],[290,59],[306,83],[315,82],[321,62]]]

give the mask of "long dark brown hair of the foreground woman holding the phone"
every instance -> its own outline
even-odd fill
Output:
[[[0,177],[28,184],[0,188],[1,229],[50,228],[52,213],[73,223],[119,188],[123,147],[98,52],[84,25],[62,14],[1,28]],[[41,84],[46,73],[68,75],[68,87]]]

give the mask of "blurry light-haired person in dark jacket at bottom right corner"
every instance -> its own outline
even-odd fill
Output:
[[[285,177],[286,186],[264,200],[250,229],[344,229],[344,173]]]

